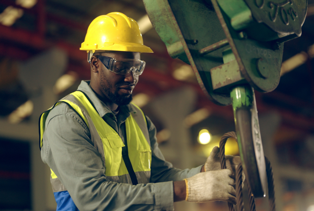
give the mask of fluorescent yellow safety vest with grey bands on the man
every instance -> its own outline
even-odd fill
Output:
[[[122,158],[124,143],[118,133],[108,125],[81,92],[75,91],[58,101],[40,116],[40,147],[42,147],[45,122],[49,111],[60,103],[67,103],[85,122],[91,134],[94,146],[101,154],[105,164],[106,178],[110,181],[132,184],[126,165]],[[132,104],[138,111],[131,113],[125,121],[128,155],[138,183],[148,183],[150,179],[151,148],[146,118],[143,111]],[[141,125],[141,127],[139,126]],[[51,185],[54,192],[66,190],[55,173],[51,170]]]

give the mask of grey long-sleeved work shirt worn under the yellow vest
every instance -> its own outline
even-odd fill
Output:
[[[99,115],[125,140],[124,127],[131,106],[120,106],[118,118],[82,81],[83,91]],[[174,210],[173,181],[181,181],[201,171],[201,167],[179,170],[165,161],[158,148],[156,128],[147,117],[152,148],[150,183],[131,185],[108,181],[101,155],[93,146],[88,127],[71,107],[61,103],[46,119],[41,159],[54,171],[79,210]]]

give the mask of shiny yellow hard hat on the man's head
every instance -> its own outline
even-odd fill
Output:
[[[138,24],[123,13],[113,12],[95,18],[87,29],[80,50],[87,53],[95,51],[130,51],[153,53],[143,45]]]

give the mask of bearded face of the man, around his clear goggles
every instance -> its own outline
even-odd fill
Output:
[[[106,53],[105,56],[116,59],[140,59],[138,52],[113,51]],[[138,76],[134,75],[133,71],[126,75],[116,74],[100,62],[101,91],[118,106],[127,105],[132,101],[132,92],[137,82]]]

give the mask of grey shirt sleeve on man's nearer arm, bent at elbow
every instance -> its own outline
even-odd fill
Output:
[[[47,117],[41,158],[79,210],[174,210],[172,181],[136,186],[109,181],[88,128],[66,104]]]

